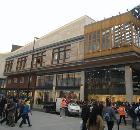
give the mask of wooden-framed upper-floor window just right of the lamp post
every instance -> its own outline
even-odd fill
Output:
[[[45,57],[46,57],[46,51],[34,54],[32,67],[35,68],[35,67],[45,66]]]

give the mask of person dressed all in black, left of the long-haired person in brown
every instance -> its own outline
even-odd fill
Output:
[[[83,130],[87,130],[86,123],[89,116],[90,116],[90,108],[87,106],[87,102],[84,102],[83,107],[82,107],[82,113],[81,113],[81,117],[83,120]]]

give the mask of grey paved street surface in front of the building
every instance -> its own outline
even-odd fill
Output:
[[[52,113],[44,113],[40,111],[33,111],[33,115],[30,115],[30,121],[32,127],[28,127],[27,124],[23,124],[23,128],[19,128],[19,123],[21,119],[18,121],[15,127],[9,127],[5,123],[0,126],[0,130],[80,130],[80,117],[60,117],[60,115],[52,114]],[[113,130],[117,130],[118,127],[115,123]],[[140,129],[140,125],[138,125],[138,129]],[[105,130],[107,130],[107,126],[105,123]],[[131,124],[127,124],[127,126],[122,123],[120,125],[120,130],[132,130]]]

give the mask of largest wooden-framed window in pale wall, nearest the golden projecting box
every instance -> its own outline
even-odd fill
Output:
[[[70,62],[70,49],[71,45],[53,49],[52,64]]]

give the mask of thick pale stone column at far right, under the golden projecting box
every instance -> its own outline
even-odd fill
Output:
[[[133,102],[132,68],[125,66],[126,101]]]

